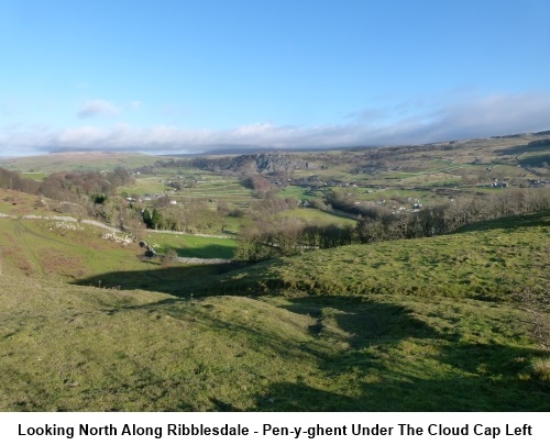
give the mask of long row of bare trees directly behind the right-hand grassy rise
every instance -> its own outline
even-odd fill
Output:
[[[515,189],[497,194],[460,197],[448,203],[392,212],[380,207],[361,215],[355,225],[308,224],[298,219],[256,219],[241,231],[238,257],[260,260],[277,255],[354,243],[437,236],[464,225],[550,208],[550,189]]]

